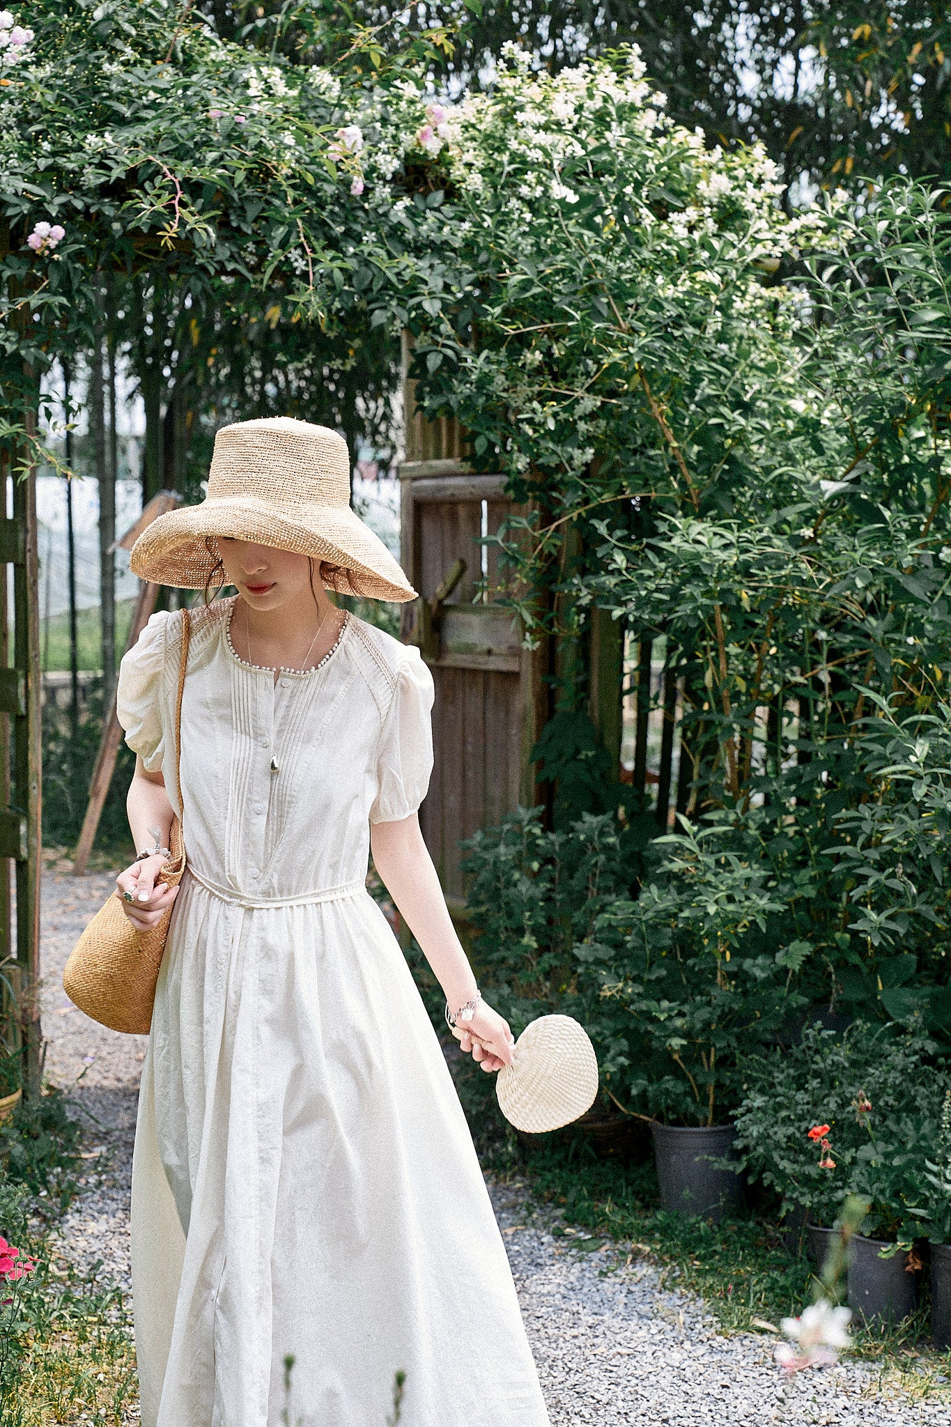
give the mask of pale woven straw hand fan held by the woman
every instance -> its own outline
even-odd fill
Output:
[[[453,1026],[490,1050],[471,1030]],[[495,1077],[495,1093],[506,1120],[529,1134],[570,1124],[590,1110],[597,1095],[597,1057],[587,1032],[572,1016],[539,1016],[515,1042],[510,1066]]]

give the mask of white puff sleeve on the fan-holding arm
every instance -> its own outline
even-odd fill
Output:
[[[418,811],[432,772],[432,674],[419,649],[403,646],[392,702],[376,745],[371,822],[399,822]]]

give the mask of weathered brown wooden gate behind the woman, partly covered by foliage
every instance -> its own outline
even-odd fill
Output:
[[[403,368],[405,370],[405,368]],[[465,908],[459,841],[536,801],[529,753],[546,719],[539,656],[498,602],[496,552],[480,541],[518,508],[503,475],[473,475],[455,422],[426,422],[405,380],[399,467],[402,565],[421,599],[403,606],[436,685],[435,768],[419,821],[453,916]]]

